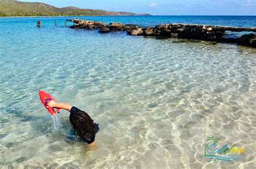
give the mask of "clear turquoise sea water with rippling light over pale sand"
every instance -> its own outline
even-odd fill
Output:
[[[83,18],[139,25],[256,23],[250,22],[255,17],[239,23],[239,17]],[[0,19],[1,167],[255,166],[255,48],[99,34],[69,29],[64,19]],[[96,146],[66,142],[69,113],[62,110],[54,121],[39,89],[88,112],[100,124]],[[245,158],[203,161],[210,135],[221,145],[244,146]]]

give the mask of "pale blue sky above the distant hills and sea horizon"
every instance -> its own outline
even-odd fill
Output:
[[[151,15],[249,15],[256,16],[256,0],[21,0],[43,2],[58,8],[150,13]]]

